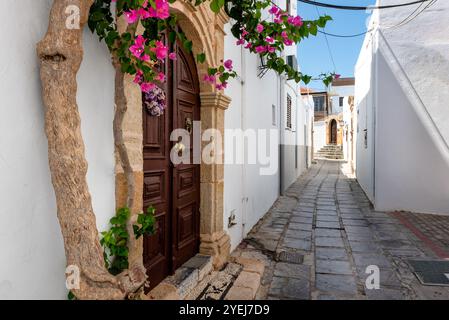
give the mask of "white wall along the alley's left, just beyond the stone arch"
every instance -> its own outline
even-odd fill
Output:
[[[278,1],[285,6],[285,1]],[[294,3],[294,2],[293,2]],[[292,13],[296,12],[296,3],[292,3]],[[268,16],[267,16],[268,17]],[[275,143],[276,170],[270,175],[261,175],[260,169],[267,166],[261,163],[225,164],[224,170],[224,225],[231,237],[231,249],[234,249],[273,205],[281,191],[281,170],[279,167],[279,150],[282,150],[282,176],[284,188],[288,187],[305,168],[305,154],[301,151],[295,155],[295,148],[304,149],[304,117],[306,116],[299,96],[299,86],[294,82],[280,81],[279,76],[268,71],[259,78],[260,59],[258,56],[235,45],[235,38],[230,32],[230,25],[225,29],[225,59],[233,59],[238,79],[230,81],[226,94],[232,98],[231,105],[225,112],[225,130],[277,130]],[[292,46],[285,55],[296,55]],[[292,130],[286,130],[287,93],[292,97]],[[273,119],[274,108],[274,119]],[[274,120],[274,121],[273,121]],[[268,131],[267,131],[268,132]],[[225,154],[229,154],[232,135],[225,136]],[[279,144],[282,141],[282,148]],[[245,145],[245,155],[248,152]],[[234,149],[233,152],[236,150]],[[297,161],[297,165],[295,165]],[[288,179],[287,179],[288,178]],[[235,214],[234,225],[228,228],[229,216]]]

